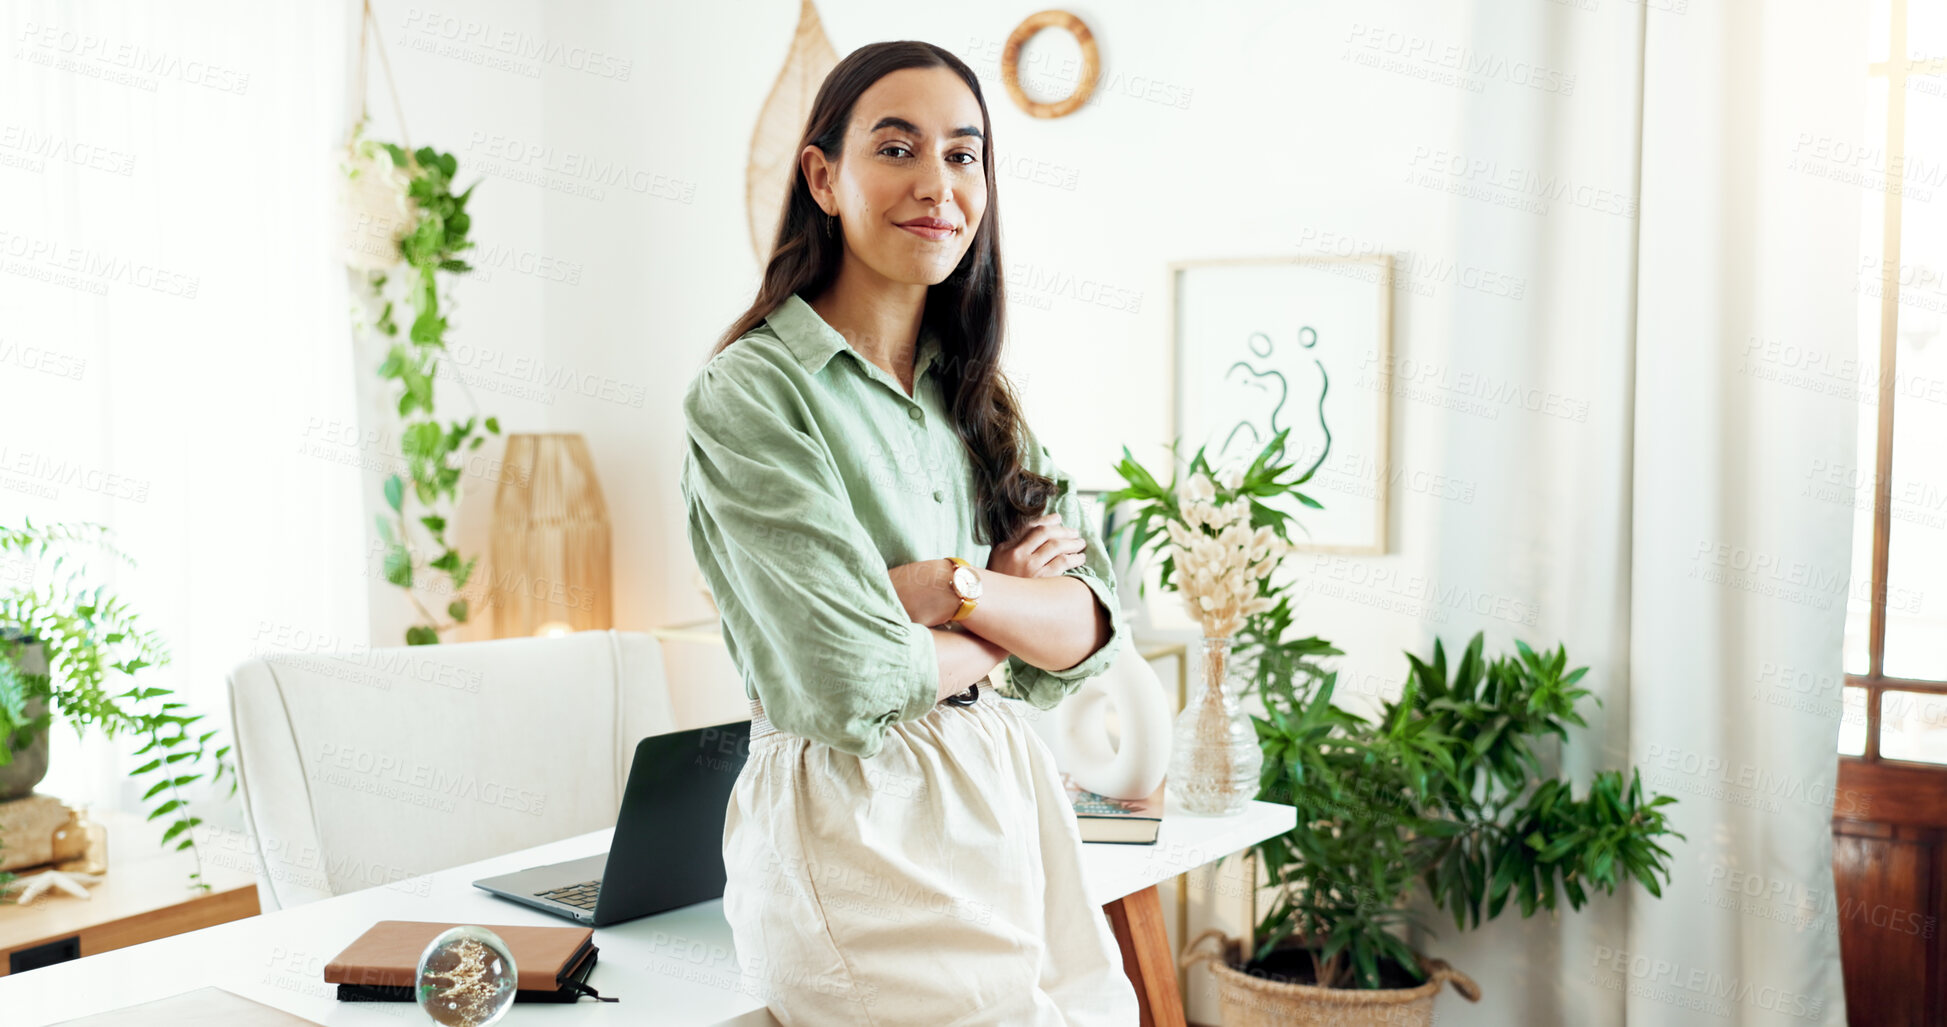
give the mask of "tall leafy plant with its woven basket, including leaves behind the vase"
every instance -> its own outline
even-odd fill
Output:
[[[1116,470],[1127,487],[1106,499],[1133,503],[1133,513],[1110,544],[1129,555],[1153,550],[1162,587],[1190,596],[1188,583],[1172,583],[1182,577],[1176,536],[1182,511],[1211,481],[1219,505],[1248,509],[1238,534],[1269,528],[1289,542],[1293,516],[1279,507],[1320,509],[1299,491],[1318,464],[1283,477],[1293,470],[1283,444],[1277,433],[1248,468],[1225,472],[1199,448],[1168,483],[1123,448]],[[1488,659],[1476,633],[1449,666],[1435,639],[1429,659],[1408,653],[1400,696],[1365,717],[1332,702],[1338,674],[1322,661],[1343,653],[1293,637],[1289,583],[1246,581],[1254,594],[1238,602],[1246,614],[1229,672],[1246,676],[1264,705],[1250,715],[1262,752],[1256,797],[1297,807],[1299,822],[1254,846],[1273,889],[1256,945],[1244,951],[1213,928],[1184,947],[1186,965],[1211,963],[1229,1027],[1431,1023],[1445,982],[1478,1000],[1464,972],[1402,935],[1425,930],[1412,910],[1419,894],[1451,912],[1456,930],[1509,904],[1532,916],[1567,898],[1579,910],[1630,879],[1663,894],[1671,854],[1657,842],[1682,838],[1663,811],[1676,799],[1645,793],[1634,770],[1628,780],[1604,770],[1577,797],[1544,764],[1548,744],[1569,742],[1569,725],[1587,727],[1579,707],[1595,700],[1579,686],[1589,668],[1567,668],[1563,647],[1536,653],[1517,641],[1515,655]],[[1217,951],[1203,947],[1213,937]]]

